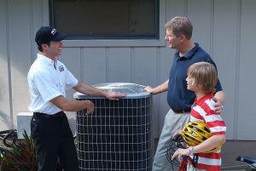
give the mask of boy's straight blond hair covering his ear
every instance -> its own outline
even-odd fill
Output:
[[[197,62],[189,66],[188,77],[194,78],[195,85],[202,88],[207,94],[214,93],[218,82],[215,66],[208,62]]]

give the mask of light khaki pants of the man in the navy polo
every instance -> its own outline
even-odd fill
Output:
[[[189,123],[190,113],[176,114],[172,110],[168,111],[165,118],[164,127],[160,134],[160,140],[154,155],[152,171],[172,171],[172,164],[166,159],[166,150],[172,141],[172,134]],[[174,168],[177,170],[177,168]]]

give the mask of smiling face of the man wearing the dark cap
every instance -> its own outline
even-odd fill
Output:
[[[47,54],[49,57],[52,57],[52,58],[55,58],[56,56],[61,55],[61,48],[62,48],[61,41],[58,41],[58,42],[51,41],[49,43],[49,46],[47,44],[45,44],[44,46],[45,54]]]

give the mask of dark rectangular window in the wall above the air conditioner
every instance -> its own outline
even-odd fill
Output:
[[[67,39],[159,38],[159,0],[50,0],[50,25]]]

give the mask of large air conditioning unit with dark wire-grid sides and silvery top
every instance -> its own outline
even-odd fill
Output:
[[[105,91],[126,94],[108,100],[74,94],[76,100],[91,100],[95,112],[77,112],[77,141],[80,170],[151,171],[151,95],[135,83],[101,83]]]

